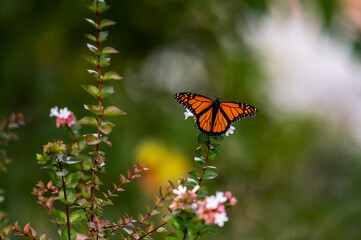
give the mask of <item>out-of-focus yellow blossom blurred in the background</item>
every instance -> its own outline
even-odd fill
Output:
[[[166,144],[157,140],[146,140],[135,149],[135,161],[144,163],[148,171],[141,178],[144,191],[154,194],[159,187],[176,182],[190,170],[189,160]]]

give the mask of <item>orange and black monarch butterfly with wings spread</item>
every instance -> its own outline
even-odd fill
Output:
[[[213,101],[196,93],[177,93],[174,98],[195,116],[197,128],[206,136],[221,136],[232,123],[258,114],[247,103],[221,102],[219,98]]]

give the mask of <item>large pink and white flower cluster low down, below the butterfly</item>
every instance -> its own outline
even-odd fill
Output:
[[[173,190],[177,196],[170,208],[173,210],[193,209],[197,218],[204,220],[207,225],[217,224],[219,227],[223,227],[224,223],[228,221],[225,206],[227,204],[235,205],[236,198],[232,197],[231,192],[217,192],[216,195],[200,200],[197,195],[198,190],[199,185],[188,191],[187,187],[179,185],[178,189]]]

